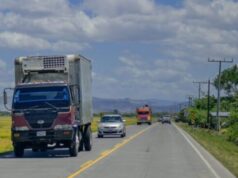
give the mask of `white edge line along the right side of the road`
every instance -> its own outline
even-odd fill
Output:
[[[220,178],[220,176],[216,173],[216,171],[212,168],[211,164],[204,158],[204,156],[201,154],[201,152],[197,149],[197,147],[189,140],[189,138],[183,133],[183,131],[173,124],[175,128],[180,132],[180,134],[185,138],[185,140],[190,144],[190,146],[194,149],[194,151],[198,154],[198,156],[201,158],[201,160],[206,164],[208,169],[212,172],[212,174],[216,178]]]

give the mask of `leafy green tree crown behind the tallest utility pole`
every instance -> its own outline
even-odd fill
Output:
[[[218,89],[218,76],[214,80],[214,86]],[[238,66],[234,65],[231,68],[225,69],[221,73],[221,89],[227,95],[233,96],[238,92]]]

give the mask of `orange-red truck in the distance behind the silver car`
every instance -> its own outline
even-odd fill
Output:
[[[148,105],[136,109],[137,125],[152,123],[152,110]]]

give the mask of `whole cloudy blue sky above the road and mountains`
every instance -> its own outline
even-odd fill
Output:
[[[216,76],[208,57],[236,64],[237,19],[233,0],[1,0],[0,89],[17,56],[80,53],[96,97],[183,101]]]

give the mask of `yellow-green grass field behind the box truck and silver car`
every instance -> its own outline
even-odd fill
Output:
[[[135,117],[124,117],[126,125],[136,124]],[[96,132],[100,117],[94,117],[91,125],[92,131]],[[11,141],[11,118],[10,116],[0,116],[0,153],[12,151]]]

